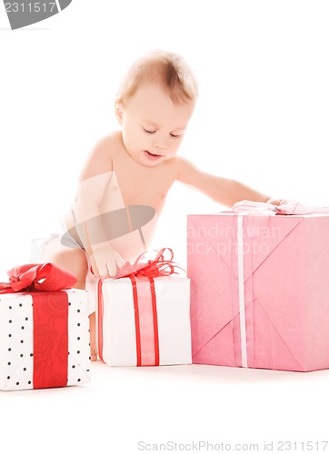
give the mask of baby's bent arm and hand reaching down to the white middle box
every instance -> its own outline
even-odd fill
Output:
[[[111,146],[114,139],[105,138],[90,153],[81,173],[73,216],[80,239],[96,276],[114,276],[125,263],[107,241],[99,212],[106,187],[112,175]]]

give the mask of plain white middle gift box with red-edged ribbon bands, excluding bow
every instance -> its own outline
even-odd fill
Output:
[[[105,279],[97,307],[98,350],[109,366],[190,364],[190,280]],[[152,296],[153,295],[153,296]]]

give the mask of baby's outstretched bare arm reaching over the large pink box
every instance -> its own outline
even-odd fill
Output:
[[[280,200],[271,199],[269,195],[246,186],[235,180],[215,176],[200,171],[193,163],[177,157],[178,176],[181,183],[204,192],[205,195],[221,205],[232,207],[235,202],[250,200],[254,202],[271,202],[280,204]]]

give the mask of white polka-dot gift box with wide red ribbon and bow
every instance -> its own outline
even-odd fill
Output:
[[[10,283],[0,283],[0,390],[88,382],[87,293],[71,288],[75,276],[52,263],[8,274]]]

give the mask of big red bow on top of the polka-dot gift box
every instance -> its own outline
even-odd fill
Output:
[[[60,291],[71,289],[74,274],[54,263],[28,263],[7,271],[9,282],[0,282],[0,293],[13,291]]]

